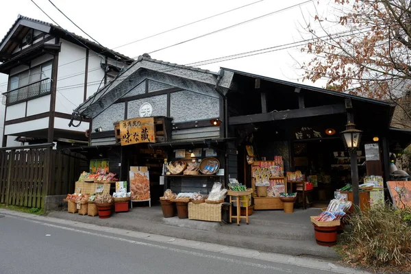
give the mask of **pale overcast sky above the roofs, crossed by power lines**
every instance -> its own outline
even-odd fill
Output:
[[[64,18],[48,0],[35,1],[59,25],[71,32],[75,32],[75,34],[86,37],[86,34],[82,33],[75,25]],[[314,14],[313,3],[311,1],[304,3],[306,2],[304,0],[51,1],[79,27],[82,27],[85,32],[90,34],[92,38],[95,38],[105,47],[110,49],[116,48],[116,51],[132,58],[142,55],[142,53],[150,53],[177,42],[297,5],[295,8],[280,11],[259,20],[150,54],[151,58],[177,64],[190,64],[300,41],[302,38],[299,32],[301,32],[300,25],[303,24],[303,16],[310,17],[310,15]],[[250,3],[253,4],[200,23],[182,27],[173,32],[135,42],[125,47],[119,47],[129,42]],[[298,5],[300,3],[302,4]],[[1,4],[1,10],[3,10],[0,17],[1,38],[5,36],[8,29],[16,21],[18,14],[52,23],[51,19],[43,14],[30,0],[2,1]],[[299,48],[301,47],[277,50],[271,53],[216,62],[214,64],[205,64],[199,67],[210,69],[211,71],[219,71],[219,68],[223,66],[297,82],[298,79],[301,79],[302,71],[298,69],[299,66],[295,59],[299,61],[308,60],[308,56],[301,53]],[[0,78],[0,91],[4,92],[7,86],[1,86],[1,84],[6,82],[7,78],[4,75],[2,76]],[[304,84],[312,83],[304,82]],[[314,85],[323,86],[324,83],[318,82]]]

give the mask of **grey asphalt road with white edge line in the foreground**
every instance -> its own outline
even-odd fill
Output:
[[[0,218],[0,273],[253,273],[325,274],[312,267],[267,262],[96,232],[5,214]]]

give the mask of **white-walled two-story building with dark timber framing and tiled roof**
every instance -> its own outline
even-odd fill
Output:
[[[19,15],[0,42],[0,73],[9,75],[2,146],[12,140],[87,142],[88,121],[69,127],[73,109],[132,61],[61,27]]]

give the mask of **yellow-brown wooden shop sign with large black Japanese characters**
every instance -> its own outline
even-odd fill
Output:
[[[120,121],[121,145],[155,142],[154,118],[134,118]]]

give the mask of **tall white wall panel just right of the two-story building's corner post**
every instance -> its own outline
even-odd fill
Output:
[[[84,98],[86,49],[63,39],[60,42],[55,111],[71,114]]]

